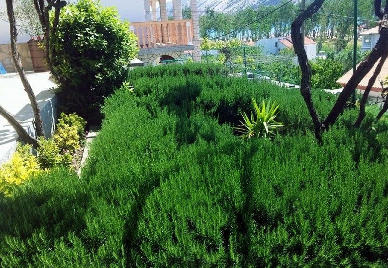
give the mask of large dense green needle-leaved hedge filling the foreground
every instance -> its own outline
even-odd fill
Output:
[[[354,113],[345,113],[318,144],[300,112],[301,131],[242,141],[220,113],[255,88],[294,122],[297,94],[193,74],[148,78],[147,88],[147,75],[135,94],[106,101],[80,179],[56,170],[0,201],[0,266],[388,265],[384,124],[348,129]],[[320,113],[333,101],[314,98]]]

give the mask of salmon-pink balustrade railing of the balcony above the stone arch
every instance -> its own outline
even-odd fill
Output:
[[[130,29],[137,36],[140,48],[192,45],[192,19],[177,21],[132,22]]]

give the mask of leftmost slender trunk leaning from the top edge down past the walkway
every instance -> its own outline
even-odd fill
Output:
[[[26,74],[24,73],[24,67],[20,60],[19,50],[17,48],[17,29],[16,29],[16,19],[14,14],[13,0],[5,0],[5,3],[7,4],[7,14],[8,14],[8,19],[10,23],[12,57],[14,59],[17,72],[19,73],[20,79],[23,83],[24,91],[26,91],[26,93],[28,94],[31,107],[34,112],[36,134],[38,136],[44,136],[43,122],[42,122],[42,118],[40,117],[39,105],[38,105],[38,102],[36,101],[35,93],[28,82]]]

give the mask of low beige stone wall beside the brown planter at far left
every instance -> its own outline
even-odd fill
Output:
[[[26,71],[32,71],[32,60],[29,54],[28,43],[19,43],[18,45],[20,58]],[[0,61],[7,72],[17,72],[14,60],[12,58],[11,45],[0,45]]]

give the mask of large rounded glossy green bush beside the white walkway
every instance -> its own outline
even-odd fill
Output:
[[[120,86],[137,53],[136,39],[113,7],[94,0],[66,5],[50,38],[54,70],[65,81],[65,106],[93,107]]]

